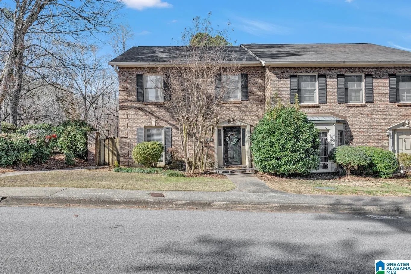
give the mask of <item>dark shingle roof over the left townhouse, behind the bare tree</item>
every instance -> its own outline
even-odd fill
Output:
[[[134,46],[114,58],[110,63],[117,62],[171,62],[178,58],[178,46]],[[227,57],[233,53],[236,56],[236,61],[254,61],[258,62],[251,54],[249,54],[241,46],[226,46]]]

